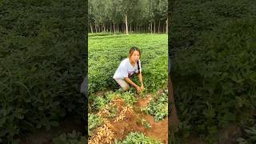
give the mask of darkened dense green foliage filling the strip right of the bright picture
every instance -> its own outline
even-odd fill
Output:
[[[218,130],[252,117],[255,6],[251,0],[173,3],[171,75],[183,136],[213,143]]]

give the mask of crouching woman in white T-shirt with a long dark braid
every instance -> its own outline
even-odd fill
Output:
[[[122,91],[126,91],[130,89],[130,85],[134,86],[137,90],[137,93],[140,93],[144,90],[144,85],[142,81],[142,66],[139,58],[141,57],[141,50],[137,47],[133,46],[129,51],[129,58],[122,60],[120,65],[118,66],[118,70],[114,73],[114,80],[118,82],[121,86]],[[134,74],[138,74],[139,82],[141,86],[138,86],[130,78],[133,78]]]

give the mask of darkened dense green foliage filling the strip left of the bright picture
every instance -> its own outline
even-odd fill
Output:
[[[86,1],[0,2],[0,142],[82,118]]]

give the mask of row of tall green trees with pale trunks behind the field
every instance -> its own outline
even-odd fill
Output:
[[[167,0],[89,0],[89,32],[167,33]]]

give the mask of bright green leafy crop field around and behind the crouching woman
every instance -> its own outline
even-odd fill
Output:
[[[167,34],[95,35],[88,38],[89,92],[116,88],[112,78],[131,46],[142,50],[142,76],[147,90],[154,91],[167,84]]]

